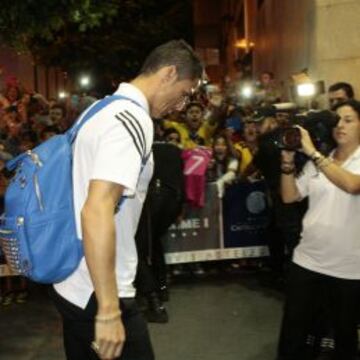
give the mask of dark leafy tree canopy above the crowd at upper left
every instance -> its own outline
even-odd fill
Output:
[[[60,66],[70,76],[88,70],[107,83],[129,78],[154,46],[192,39],[191,0],[4,2],[9,6],[0,9],[2,38],[29,49],[36,63]]]

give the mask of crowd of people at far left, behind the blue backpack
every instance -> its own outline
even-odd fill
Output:
[[[0,94],[0,208],[3,212],[3,197],[11,173],[6,170],[8,160],[28,151],[66,131],[77,116],[95,98],[73,94],[66,100],[46,99],[43,95],[26,89],[14,76],[4,80]],[[5,263],[0,254],[1,264]],[[28,297],[28,284],[23,277],[3,277],[1,282],[1,304],[24,303]]]

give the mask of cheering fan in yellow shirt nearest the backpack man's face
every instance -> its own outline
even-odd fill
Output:
[[[205,109],[199,102],[190,102],[185,111],[185,122],[164,120],[165,128],[176,129],[181,136],[184,150],[197,146],[211,146],[212,137],[217,128],[214,117],[204,118]]]

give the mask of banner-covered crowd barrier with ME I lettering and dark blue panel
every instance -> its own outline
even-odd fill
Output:
[[[263,257],[267,224],[265,185],[238,183],[219,199],[215,183],[207,184],[205,206],[186,207],[181,224],[164,237],[168,264]]]

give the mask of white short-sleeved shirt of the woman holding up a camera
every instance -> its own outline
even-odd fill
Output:
[[[360,147],[342,167],[360,175]],[[302,197],[309,196],[309,209],[294,263],[337,278],[360,279],[360,195],[335,186],[311,161],[296,183]]]

